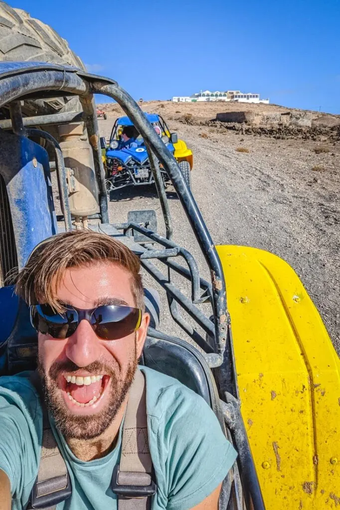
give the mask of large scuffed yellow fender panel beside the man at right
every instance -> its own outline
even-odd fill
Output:
[[[217,246],[241,414],[268,510],[340,508],[340,361],[294,270]]]

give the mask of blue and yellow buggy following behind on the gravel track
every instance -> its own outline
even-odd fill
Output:
[[[184,179],[191,187],[192,152],[176,133],[170,133],[164,119],[154,113],[145,113],[156,133],[168,150],[179,162]],[[106,187],[108,193],[126,186],[139,186],[154,183],[149,155],[144,140],[129,117],[119,117],[112,128],[109,147],[106,150]],[[162,165],[160,171],[164,186],[170,182]]]

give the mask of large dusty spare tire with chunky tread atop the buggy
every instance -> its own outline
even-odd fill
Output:
[[[0,61],[36,61],[68,64],[85,70],[83,62],[51,27],[22,9],[0,2]],[[26,115],[81,111],[78,97],[25,101]]]

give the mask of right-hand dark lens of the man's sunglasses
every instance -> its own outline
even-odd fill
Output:
[[[118,340],[139,327],[140,315],[138,308],[107,305],[93,312],[91,324],[95,334],[103,340]]]

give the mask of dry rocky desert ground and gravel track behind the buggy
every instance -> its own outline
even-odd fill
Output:
[[[161,114],[192,149],[192,192],[214,243],[255,246],[286,260],[340,353],[340,116],[237,103],[140,106]],[[124,113],[113,103],[99,107],[108,115],[99,125],[109,139],[115,118]],[[226,113],[229,122],[216,120]],[[167,195],[174,239],[193,253],[204,273],[177,195],[172,188]],[[160,214],[150,187],[117,192],[109,208],[115,222],[126,220],[129,210]],[[159,232],[164,233],[161,216]]]

